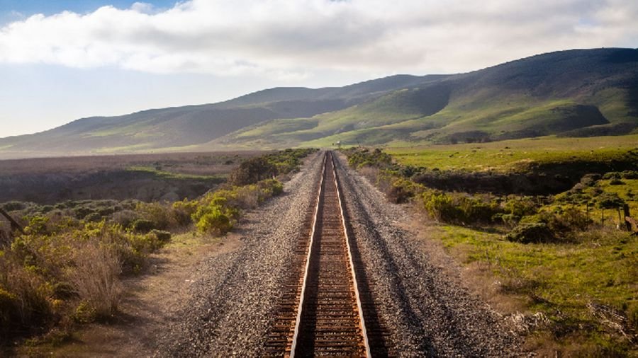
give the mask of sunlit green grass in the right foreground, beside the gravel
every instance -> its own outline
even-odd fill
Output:
[[[592,310],[602,305],[638,322],[638,237],[622,231],[598,231],[577,244],[520,244],[502,235],[459,226],[441,226],[440,240],[465,263],[483,262],[500,278],[505,294],[526,296],[531,311],[552,321],[551,335],[560,344],[615,347],[622,355],[636,352],[628,340]],[[633,326],[633,328],[632,328]],[[633,351],[632,351],[633,350]]]

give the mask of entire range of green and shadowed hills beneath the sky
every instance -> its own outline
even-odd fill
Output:
[[[0,139],[0,156],[481,142],[636,127],[638,50],[569,50],[467,74],[271,88],[210,105],[85,118]]]

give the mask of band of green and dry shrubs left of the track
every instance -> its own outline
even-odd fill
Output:
[[[121,278],[144,272],[149,255],[174,233],[228,233],[242,212],[280,195],[279,180],[312,152],[249,158],[228,183],[194,200],[0,204],[24,231],[0,227],[0,343],[44,333],[64,340],[79,323],[110,318],[123,293]]]

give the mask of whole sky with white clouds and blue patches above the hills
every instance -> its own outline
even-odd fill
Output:
[[[0,137],[275,86],[638,46],[635,0],[0,0]]]

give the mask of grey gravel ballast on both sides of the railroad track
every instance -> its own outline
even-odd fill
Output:
[[[335,156],[340,186],[376,310],[404,357],[516,355],[503,318],[430,262],[420,239],[401,229],[405,210],[388,203]],[[284,195],[247,213],[237,249],[196,267],[191,299],[158,342],[157,357],[259,357],[294,242],[318,183],[323,153],[311,156]]]

